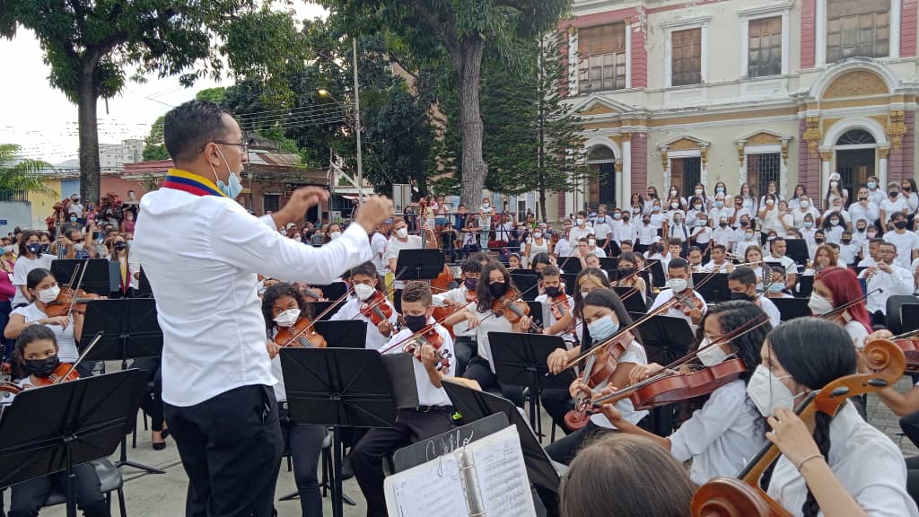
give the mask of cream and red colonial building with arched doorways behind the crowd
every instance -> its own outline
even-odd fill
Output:
[[[777,181],[823,197],[916,170],[919,0],[574,0],[567,95],[599,180],[558,201]],[[665,194],[664,194],[665,195]]]

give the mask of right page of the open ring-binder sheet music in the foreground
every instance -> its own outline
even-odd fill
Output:
[[[487,517],[534,517],[527,465],[516,427],[467,445],[475,460],[478,489]]]

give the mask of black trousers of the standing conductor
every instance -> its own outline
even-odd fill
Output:
[[[269,517],[282,447],[278,402],[247,385],[200,404],[165,404],[188,475],[187,517]]]

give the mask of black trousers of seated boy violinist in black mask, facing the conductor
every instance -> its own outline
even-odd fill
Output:
[[[451,408],[431,408],[430,411],[399,409],[394,428],[374,428],[357,442],[351,451],[351,465],[360,491],[367,500],[368,517],[386,517],[383,496],[383,458],[419,440],[437,436],[453,427]],[[431,509],[437,515],[436,509]]]

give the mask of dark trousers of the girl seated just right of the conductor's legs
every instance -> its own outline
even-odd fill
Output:
[[[319,491],[317,471],[325,432],[323,426],[298,425],[288,419],[287,415],[281,415],[281,433],[284,435],[286,449],[290,451],[303,517],[323,517],[323,495]]]

